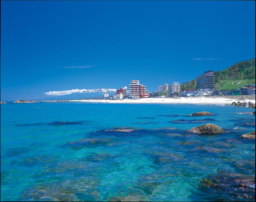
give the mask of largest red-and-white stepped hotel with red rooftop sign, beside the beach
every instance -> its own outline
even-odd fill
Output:
[[[139,80],[132,80],[129,84],[129,98],[147,98],[148,90],[146,86],[139,84]]]

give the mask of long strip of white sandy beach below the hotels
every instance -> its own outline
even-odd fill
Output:
[[[70,100],[71,102],[97,102],[97,103],[157,103],[157,104],[231,104],[232,102],[252,102],[255,99],[229,99],[224,97],[165,97],[165,98],[140,98],[140,99],[123,99],[123,100]]]

